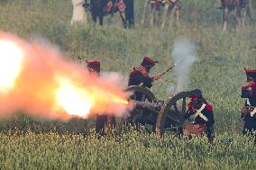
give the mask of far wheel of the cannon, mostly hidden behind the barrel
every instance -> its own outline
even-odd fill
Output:
[[[141,93],[142,94],[142,100],[140,100],[141,102],[153,103],[154,101],[156,101],[155,95],[152,94],[151,90],[149,88],[145,87],[145,86],[131,85],[125,91],[126,92],[133,92],[133,94]],[[131,96],[131,100],[134,100],[134,95]],[[133,123],[133,122],[128,121],[128,120],[129,120],[129,117],[128,118],[123,118],[123,122]],[[152,126],[151,124],[144,124],[144,126],[145,126],[145,129],[149,132],[156,130],[155,125]]]

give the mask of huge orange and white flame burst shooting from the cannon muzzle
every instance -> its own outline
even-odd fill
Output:
[[[49,44],[0,32],[0,116],[20,110],[62,120],[122,116],[130,108],[120,78],[90,75]]]

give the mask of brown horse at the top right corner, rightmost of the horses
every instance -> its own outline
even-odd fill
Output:
[[[221,0],[223,8],[223,30],[227,28],[228,12],[233,10],[233,31],[236,30],[237,17],[242,16],[242,27],[245,25],[246,14],[251,18],[250,0]],[[252,20],[252,18],[251,18]]]

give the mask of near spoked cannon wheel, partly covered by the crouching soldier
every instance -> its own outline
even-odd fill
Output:
[[[189,101],[190,92],[179,92],[173,94],[161,107],[156,131],[158,137],[164,133],[180,135],[182,133],[183,114],[187,111],[187,102]],[[206,99],[203,98],[203,102]]]

